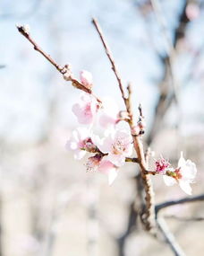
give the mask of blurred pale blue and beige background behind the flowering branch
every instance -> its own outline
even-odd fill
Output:
[[[130,223],[137,204],[136,166],[126,163],[113,186],[86,172],[65,150],[78,126],[72,104],[79,91],[32,49],[15,24],[30,33],[58,64],[94,77],[94,92],[114,97],[115,75],[91,17],[98,19],[124,83],[141,103],[147,146],[176,166],[197,164],[193,195],[203,193],[204,1],[0,1],[0,256],[173,255],[165,243]],[[180,199],[179,187],[153,177],[156,203]],[[187,255],[203,255],[203,202],[162,212]]]

